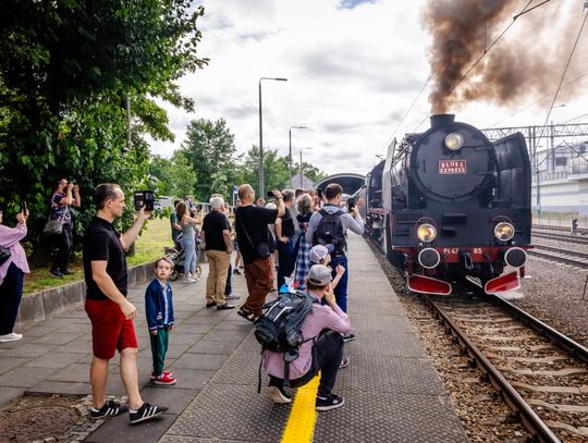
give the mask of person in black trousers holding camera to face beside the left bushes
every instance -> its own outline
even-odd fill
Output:
[[[68,269],[70,255],[73,246],[73,223],[70,207],[79,208],[79,186],[75,183],[68,183],[68,179],[61,179],[53,195],[51,195],[50,220],[59,221],[62,224],[61,234],[56,235],[54,247],[58,253],[51,266],[51,275],[61,279],[63,275],[73,274],[74,271]]]

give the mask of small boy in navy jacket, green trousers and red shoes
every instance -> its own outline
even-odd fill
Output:
[[[155,384],[175,384],[175,378],[169,371],[164,371],[166,354],[170,331],[173,330],[173,304],[172,290],[168,279],[173,264],[166,257],[156,261],[156,278],[145,291],[145,315],[149,328],[151,342],[151,356],[154,358],[154,371],[151,382]]]

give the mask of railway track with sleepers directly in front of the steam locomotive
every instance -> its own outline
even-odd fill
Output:
[[[537,441],[588,442],[587,348],[500,297],[426,299]]]

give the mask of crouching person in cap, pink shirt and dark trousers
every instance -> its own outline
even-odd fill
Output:
[[[342,396],[332,390],[343,356],[343,337],[351,331],[350,318],[336,305],[331,288],[331,269],[315,264],[310,268],[306,287],[317,303],[304,319],[301,333],[304,342],[298,349],[298,357],[290,364],[290,385],[299,387],[313,380],[320,371],[315,407],[317,410],[330,410],[343,406]],[[324,300],[326,305],[320,302]],[[274,403],[291,403],[292,398],[284,391],[283,354],[266,350],[264,367],[270,377],[268,395]]]

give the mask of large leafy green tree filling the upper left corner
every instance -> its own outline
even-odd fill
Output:
[[[193,110],[174,81],[207,63],[196,53],[204,9],[188,0],[0,0],[0,170],[9,171],[0,204],[15,212],[26,199],[35,238],[54,183],[73,179],[81,233],[98,183],[117,182],[127,195],[151,185],[142,135],[172,138],[152,97]]]

